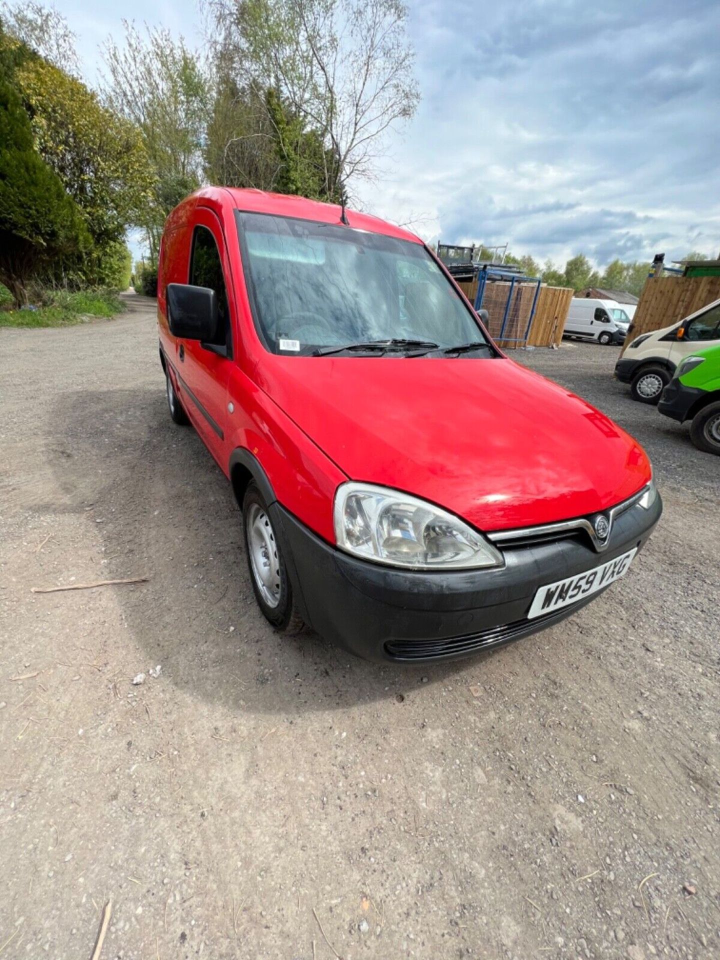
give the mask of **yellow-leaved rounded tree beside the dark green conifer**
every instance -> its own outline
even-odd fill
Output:
[[[80,207],[94,255],[102,258],[142,217],[151,197],[153,174],[140,135],[81,81],[35,54],[16,68],[15,81],[36,150]],[[94,255],[75,264],[91,282]]]

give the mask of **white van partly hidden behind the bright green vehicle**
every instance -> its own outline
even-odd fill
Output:
[[[615,364],[615,376],[621,383],[630,384],[634,399],[657,403],[688,353],[718,344],[720,300],[714,300],[679,324],[636,337]]]

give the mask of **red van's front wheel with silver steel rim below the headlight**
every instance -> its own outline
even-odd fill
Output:
[[[276,630],[298,633],[303,626],[302,617],[293,600],[293,588],[267,504],[254,482],[243,498],[243,526],[258,607]]]

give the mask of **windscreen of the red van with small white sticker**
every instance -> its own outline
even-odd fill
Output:
[[[255,326],[274,353],[385,340],[486,342],[420,245],[341,225],[236,213]]]

